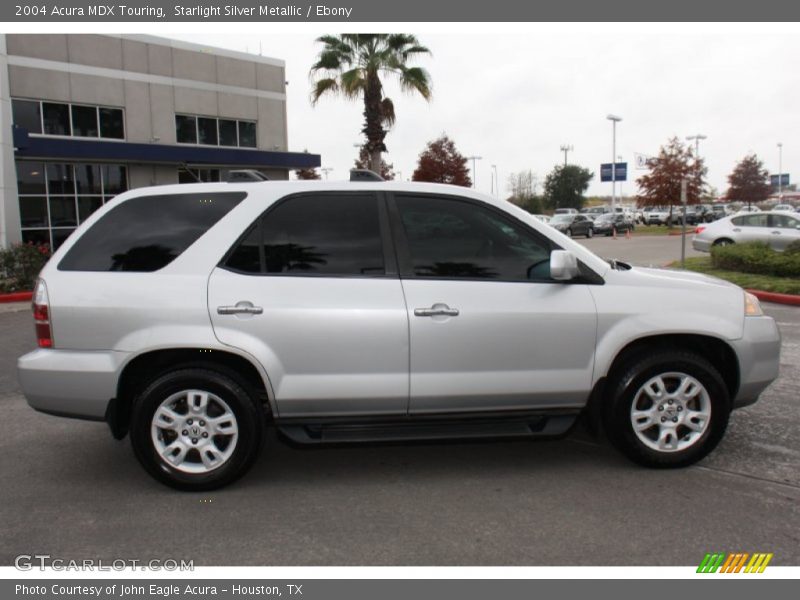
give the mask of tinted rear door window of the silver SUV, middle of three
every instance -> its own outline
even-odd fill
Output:
[[[254,224],[224,266],[249,274],[384,275],[378,200],[345,194],[284,200]]]

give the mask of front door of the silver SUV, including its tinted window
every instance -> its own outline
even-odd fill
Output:
[[[579,407],[597,315],[586,283],[549,276],[545,236],[487,204],[397,194],[409,315],[409,412]]]

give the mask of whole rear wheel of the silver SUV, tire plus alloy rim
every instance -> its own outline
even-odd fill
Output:
[[[131,444],[145,470],[161,483],[212,490],[252,466],[263,423],[258,400],[233,376],[178,369],[154,379],[135,399]]]

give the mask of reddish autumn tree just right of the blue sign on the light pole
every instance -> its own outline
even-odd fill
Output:
[[[684,146],[677,137],[662,146],[658,156],[649,161],[650,172],[636,181],[639,206],[669,205],[670,222],[672,207],[681,203],[681,182],[686,180],[686,203],[700,202],[705,189],[707,172],[703,159],[694,155],[691,146]]]

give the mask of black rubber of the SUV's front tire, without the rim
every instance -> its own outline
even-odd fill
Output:
[[[691,445],[684,449],[662,451],[649,447],[639,439],[633,428],[631,410],[645,383],[657,375],[670,372],[683,373],[700,382],[708,393],[711,410],[705,430]],[[731,411],[728,388],[714,366],[693,352],[661,350],[638,360],[633,358],[612,374],[607,389],[603,424],[609,440],[620,452],[640,465],[655,468],[691,465],[717,446],[728,426]]]

